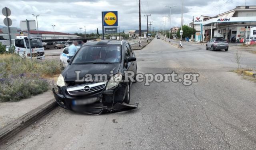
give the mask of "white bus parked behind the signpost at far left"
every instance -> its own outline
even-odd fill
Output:
[[[6,45],[6,50],[8,51],[9,45],[6,44],[8,40],[0,40],[2,45]],[[22,57],[30,57],[30,49],[28,44],[28,36],[17,36],[16,39],[12,39],[15,46],[15,53],[18,53]],[[41,37],[30,36],[30,44],[32,57],[34,59],[44,59],[44,46],[42,44]]]

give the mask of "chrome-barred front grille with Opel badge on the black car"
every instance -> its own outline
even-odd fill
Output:
[[[67,92],[70,95],[86,95],[91,94],[93,92],[100,92],[102,91],[106,86],[106,82],[98,82],[93,84],[84,84],[72,88],[67,88]]]

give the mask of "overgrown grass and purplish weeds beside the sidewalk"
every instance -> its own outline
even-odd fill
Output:
[[[61,71],[57,60],[31,61],[17,54],[0,54],[0,102],[46,92]]]

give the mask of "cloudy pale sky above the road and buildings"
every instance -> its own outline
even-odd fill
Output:
[[[236,6],[245,5],[246,0],[184,0],[183,17],[184,24],[192,21],[193,16],[215,16],[220,12],[234,9]],[[142,29],[146,29],[145,14],[151,14],[148,18],[153,22],[155,29],[165,24],[165,17],[172,8],[171,26],[181,24],[182,0],[141,0]],[[256,0],[247,0],[247,5],[256,5]],[[80,32],[79,27],[86,26],[87,32],[96,32],[102,29],[101,12],[118,11],[118,24],[120,30],[135,30],[139,26],[138,0],[0,0],[0,8],[8,7],[12,11],[10,18],[12,26],[19,27],[20,20],[35,19],[32,14],[40,14],[38,17],[39,30],[52,31],[52,24],[58,32]],[[0,20],[4,16],[0,15]],[[167,18],[167,28],[169,20]],[[0,21],[0,25],[4,26]],[[82,30],[83,32],[83,30]]]

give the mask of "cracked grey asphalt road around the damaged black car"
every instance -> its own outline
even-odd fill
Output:
[[[197,83],[153,82],[131,87],[138,109],[100,116],[60,107],[24,129],[8,150],[255,150],[256,84],[236,69],[235,49],[205,50],[184,42],[179,49],[153,40],[136,51],[138,72],[175,70],[200,74]],[[256,66],[256,54],[241,53],[243,67]]]

